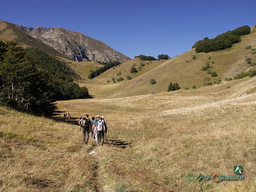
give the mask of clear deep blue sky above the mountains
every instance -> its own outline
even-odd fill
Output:
[[[256,0],[0,0],[0,20],[81,32],[131,58],[174,57],[206,36],[252,27],[255,8]]]

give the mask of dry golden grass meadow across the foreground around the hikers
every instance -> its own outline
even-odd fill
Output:
[[[53,119],[0,108],[0,191],[255,192],[255,82],[59,101]],[[71,121],[62,119],[64,110]],[[92,138],[82,144],[77,121],[85,114],[105,116],[103,146]],[[244,180],[196,181],[199,174],[234,175],[234,165]]]

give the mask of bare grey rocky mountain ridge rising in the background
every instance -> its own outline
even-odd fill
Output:
[[[28,35],[43,41],[56,51],[76,61],[92,60],[100,62],[119,61],[124,63],[131,58],[112,49],[100,40],[93,39],[80,32],[64,28],[31,28],[16,25]]]

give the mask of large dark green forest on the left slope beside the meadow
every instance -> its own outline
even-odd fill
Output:
[[[0,40],[0,105],[34,115],[51,115],[54,102],[88,97],[63,62],[35,48]]]

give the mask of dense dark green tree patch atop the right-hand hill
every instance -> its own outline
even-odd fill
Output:
[[[240,36],[247,35],[251,32],[251,28],[247,25],[236,28],[233,31],[225,32],[214,39],[205,37],[204,40],[196,41],[192,48],[196,48],[196,52],[212,52],[231,48],[232,44],[241,41]]]

